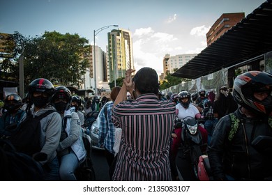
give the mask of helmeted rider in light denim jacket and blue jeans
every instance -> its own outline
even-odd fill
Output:
[[[84,161],[86,150],[82,141],[80,118],[74,107],[70,107],[71,92],[65,86],[55,88],[52,104],[61,114],[62,131],[56,149],[60,159],[59,176],[63,181],[75,181],[75,170]]]

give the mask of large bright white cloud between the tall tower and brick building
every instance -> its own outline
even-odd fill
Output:
[[[208,28],[199,26],[192,29],[190,35],[206,35]],[[136,29],[133,33],[133,55],[135,69],[143,67],[154,68],[158,75],[163,73],[163,58],[165,54],[199,54],[206,47],[204,36],[192,37],[157,32],[151,27]]]

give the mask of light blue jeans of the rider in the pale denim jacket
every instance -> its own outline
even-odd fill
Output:
[[[73,150],[71,150],[69,154],[63,155],[61,157],[61,165],[59,166],[59,176],[61,180],[76,181],[77,178],[75,178],[74,172],[78,166],[80,166],[80,162]]]

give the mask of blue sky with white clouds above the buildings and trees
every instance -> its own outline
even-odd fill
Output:
[[[163,72],[165,54],[199,54],[206,33],[222,13],[245,13],[264,0],[0,0],[0,32],[35,37],[45,31],[77,33],[106,52],[107,33],[121,28],[131,32],[135,69]]]

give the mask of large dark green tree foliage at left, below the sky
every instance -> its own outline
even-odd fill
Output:
[[[89,66],[90,49],[88,40],[77,34],[61,34],[56,31],[35,38],[24,38],[20,33],[13,35],[17,47],[13,59],[5,59],[3,71],[19,77],[19,55],[24,51],[24,83],[45,78],[53,84],[80,86],[81,77]],[[22,49],[24,48],[24,49]]]

